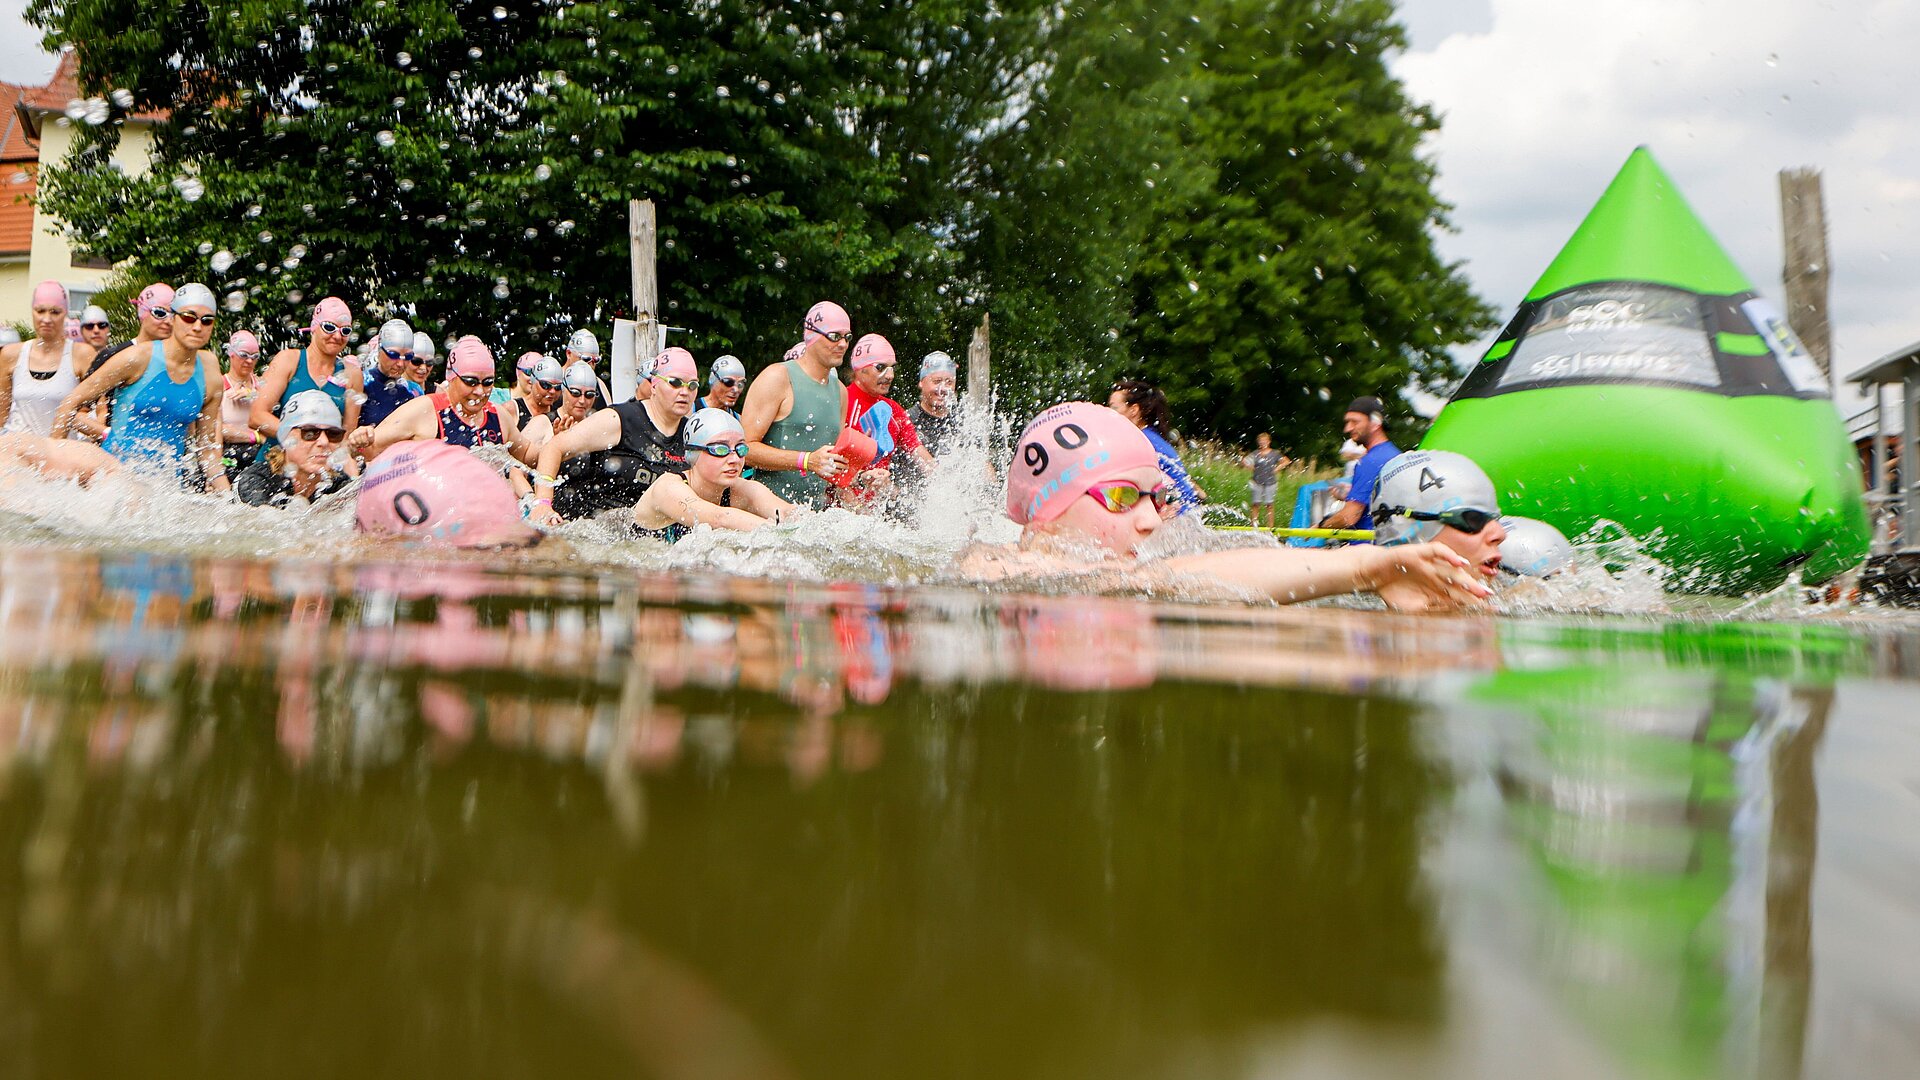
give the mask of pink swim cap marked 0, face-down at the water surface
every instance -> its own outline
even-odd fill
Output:
[[[513,486],[486,461],[445,442],[397,442],[361,477],[353,521],[361,532],[497,548],[540,530],[520,521]]]

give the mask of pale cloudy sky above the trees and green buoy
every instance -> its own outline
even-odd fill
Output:
[[[52,58],[0,0],[0,77]],[[1647,144],[1755,284],[1780,298],[1776,173],[1826,173],[1834,348],[1855,371],[1920,340],[1920,4],[1901,0],[1407,0],[1409,90],[1450,258],[1501,313]]]

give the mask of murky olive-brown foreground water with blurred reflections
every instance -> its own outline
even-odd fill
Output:
[[[1814,972],[1864,980],[1822,967],[1855,826],[1814,763],[1912,724],[1836,688],[1916,655],[6,550],[0,1042],[33,1076],[1897,1076],[1905,1001],[1822,1042]]]

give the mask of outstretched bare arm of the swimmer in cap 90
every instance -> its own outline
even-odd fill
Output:
[[[1475,580],[1473,567],[1442,544],[1400,548],[1296,548],[1208,552],[1162,563],[1173,573],[1204,575],[1300,603],[1344,592],[1377,592],[1400,611],[1432,611],[1480,603],[1490,590]]]

